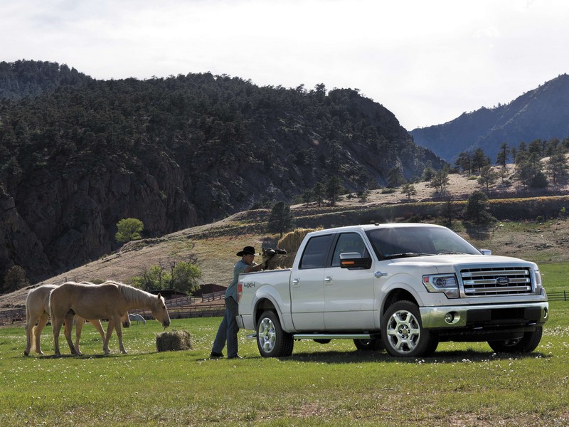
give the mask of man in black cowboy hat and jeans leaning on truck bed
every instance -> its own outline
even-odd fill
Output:
[[[235,322],[235,316],[238,315],[239,305],[237,303],[237,282],[241,273],[250,273],[252,271],[259,271],[262,269],[262,263],[255,263],[255,248],[252,246],[245,246],[243,251],[239,251],[237,256],[241,259],[233,267],[233,280],[225,291],[225,315],[219,325],[216,339],[213,341],[211,347],[210,357],[217,358],[223,357],[223,347],[227,341],[227,357],[228,359],[240,359],[237,354],[237,333],[239,327]]]

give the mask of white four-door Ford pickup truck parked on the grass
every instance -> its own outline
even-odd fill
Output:
[[[548,318],[535,263],[422,223],[308,233],[292,268],[240,275],[238,299],[238,325],[255,331],[264,357],[289,356],[295,339],[353,339],[395,357],[445,341],[532,352]]]

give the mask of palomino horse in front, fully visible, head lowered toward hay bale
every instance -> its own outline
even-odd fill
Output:
[[[127,352],[122,344],[121,319],[124,319],[124,327],[130,325],[129,310],[146,308],[164,327],[170,325],[170,316],[166,310],[164,297],[160,294],[152,295],[144,290],[113,281],[107,281],[100,285],[63,283],[51,291],[49,302],[56,356],[61,355],[59,352],[61,326],[64,321],[70,323],[73,320],[73,315],[79,315],[85,319],[109,320],[107,337],[105,337],[102,347],[105,354],[109,354],[109,339],[115,327],[117,328],[120,351],[122,353]],[[67,327],[65,328],[65,339],[67,339],[69,348],[73,353],[71,330]]]

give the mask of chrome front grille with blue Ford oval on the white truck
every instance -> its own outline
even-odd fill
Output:
[[[467,297],[531,294],[531,270],[520,267],[460,270]]]

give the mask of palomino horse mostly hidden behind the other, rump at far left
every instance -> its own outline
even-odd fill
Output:
[[[55,288],[57,288],[57,285],[41,285],[28,292],[26,297],[26,349],[23,351],[24,356],[28,356],[33,349],[36,350],[36,353],[43,354],[40,347],[40,336],[49,318],[49,294]],[[36,322],[38,325],[36,325]],[[91,319],[89,322],[99,331],[103,342],[105,342],[105,332],[102,330],[101,321]],[[83,323],[85,323],[85,319],[77,316],[77,327],[75,329],[75,349],[77,354],[81,354],[79,339],[81,330],[83,330]],[[65,325],[65,327],[71,327],[71,325]]]

